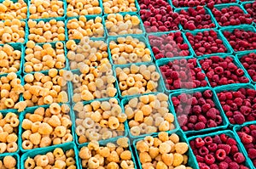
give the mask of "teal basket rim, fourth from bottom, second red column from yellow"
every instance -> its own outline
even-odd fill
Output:
[[[203,55],[198,55],[195,53],[195,49],[193,48],[193,54],[196,58],[201,58],[201,57],[206,57],[206,56],[215,56],[218,54],[232,54],[232,48],[230,48],[229,42],[221,35],[220,31],[216,29],[202,29],[202,30],[196,30],[196,31],[189,31],[187,33],[191,33],[194,37],[197,35],[197,33],[201,32],[203,33],[204,31],[215,31],[217,33],[218,39],[222,40],[224,47],[227,48],[227,51],[225,53],[214,53],[214,54],[203,54]],[[185,35],[187,34],[185,33]],[[186,35],[187,36],[187,35]],[[188,38],[188,37],[187,37]],[[188,38],[189,39],[189,38]],[[189,42],[190,46],[192,47],[192,44]]]

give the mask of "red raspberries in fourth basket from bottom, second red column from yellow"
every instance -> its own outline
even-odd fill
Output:
[[[223,41],[218,38],[216,31],[202,31],[196,33],[196,35],[187,32],[186,36],[197,56],[227,52],[227,48]]]

